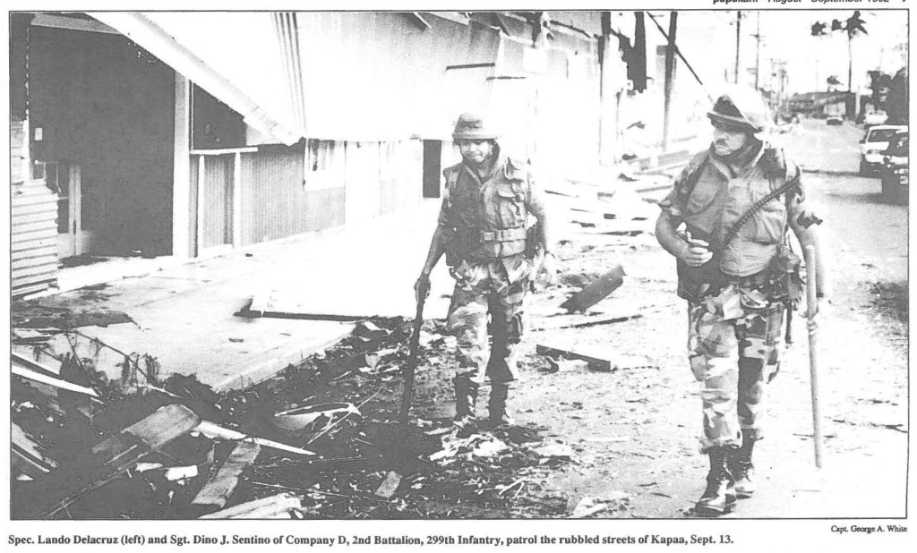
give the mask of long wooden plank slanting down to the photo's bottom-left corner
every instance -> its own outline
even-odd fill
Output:
[[[94,445],[60,470],[29,483],[13,497],[22,518],[46,518],[127,472],[153,450],[191,431],[200,417],[178,404],[160,407],[116,436]]]

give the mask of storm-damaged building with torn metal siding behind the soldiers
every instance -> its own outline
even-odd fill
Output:
[[[201,257],[410,209],[469,109],[546,167],[613,158],[632,17],[13,14],[13,293],[72,256]]]

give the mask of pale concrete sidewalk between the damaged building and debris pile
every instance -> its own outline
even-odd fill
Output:
[[[352,330],[350,323],[328,320],[236,316],[252,298],[295,298],[297,305],[329,315],[413,318],[414,279],[424,263],[438,204],[423,201],[414,211],[359,226],[258,244],[190,263],[156,264],[150,266],[156,270],[142,275],[117,276],[123,273],[123,263],[112,264],[115,273],[106,273],[102,266],[78,267],[77,280],[83,287],[36,301],[50,308],[121,311],[133,320],[78,328],[84,336],[76,336],[75,344],[63,335],[51,342],[59,354],[75,346],[81,357],[94,357],[96,369],[110,378],[120,377],[117,365],[125,354],[137,352],[157,358],[163,377],[196,374],[218,390],[241,388],[325,349]],[[116,280],[87,286],[105,280],[106,274]],[[433,276],[427,318],[445,317],[444,296],[451,293],[451,284],[440,263]],[[111,348],[94,346],[92,338]],[[14,349],[32,354],[30,347]],[[52,367],[60,364],[48,357],[39,361]]]

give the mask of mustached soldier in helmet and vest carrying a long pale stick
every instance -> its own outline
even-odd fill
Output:
[[[691,372],[702,384],[701,450],[711,469],[697,511],[722,515],[736,497],[755,491],[752,451],[764,437],[765,389],[779,371],[786,309],[801,292],[788,226],[803,247],[814,244],[817,258],[824,257],[816,233],[822,221],[806,201],[800,169],[757,137],[767,117],[757,92],[734,87],[708,116],[713,144],[659,203],[656,234],[679,260]],[[823,263],[811,273],[823,298]]]

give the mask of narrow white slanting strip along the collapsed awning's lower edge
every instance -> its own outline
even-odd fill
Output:
[[[263,106],[253,101],[234,82],[201,60],[191,49],[141,12],[84,12],[99,22],[116,29],[163,63],[193,81],[206,92],[242,115],[243,121],[264,136],[292,146],[303,138],[302,133],[283,125]]]

